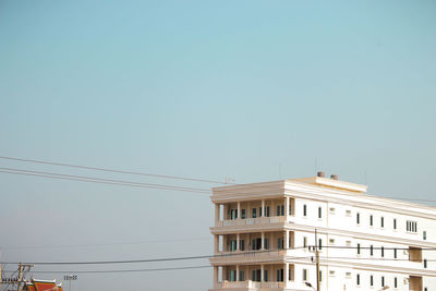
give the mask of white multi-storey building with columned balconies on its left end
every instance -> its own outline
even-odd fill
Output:
[[[365,192],[323,172],[215,187],[210,291],[315,290],[315,229],[319,291],[436,291],[436,208]]]

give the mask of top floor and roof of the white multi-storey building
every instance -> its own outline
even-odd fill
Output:
[[[436,243],[436,208],[364,194],[366,186],[312,178],[216,187],[213,232],[307,226]]]

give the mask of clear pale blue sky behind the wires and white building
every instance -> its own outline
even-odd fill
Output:
[[[240,183],[277,180],[279,165],[281,178],[313,175],[316,159],[347,181],[366,172],[372,194],[432,198],[435,15],[435,1],[2,0],[0,155]],[[12,166],[53,170],[0,161]],[[3,260],[213,251],[207,195],[0,184]],[[210,284],[199,269],[80,275],[75,290]]]

